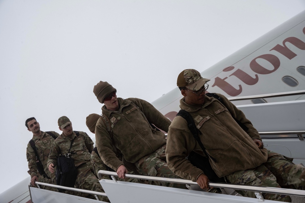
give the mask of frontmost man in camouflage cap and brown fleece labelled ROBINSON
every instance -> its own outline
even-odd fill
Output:
[[[241,110],[221,94],[217,96],[222,102],[205,95],[208,81],[194,69],[186,69],[178,75],[177,86],[184,96],[180,100],[180,108],[194,120],[206,153],[193,137],[187,121],[177,116],[167,135],[168,167],[178,176],[196,181],[202,189],[208,188],[209,178],[185,159],[194,151],[208,156],[217,176],[224,177],[227,182],[304,190],[305,168],[264,148],[259,133]],[[242,124],[239,125],[233,117]],[[248,130],[243,130],[242,125]],[[256,198],[251,191],[239,193]],[[264,193],[263,196],[269,200],[291,202],[286,195]]]

